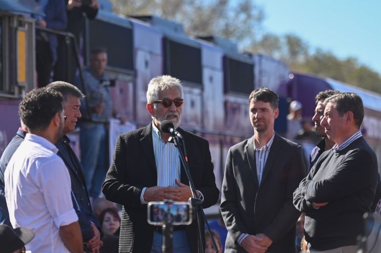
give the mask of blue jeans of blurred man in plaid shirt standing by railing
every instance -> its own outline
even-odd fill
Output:
[[[106,127],[102,123],[80,124],[81,163],[90,197],[98,198],[106,177]]]

